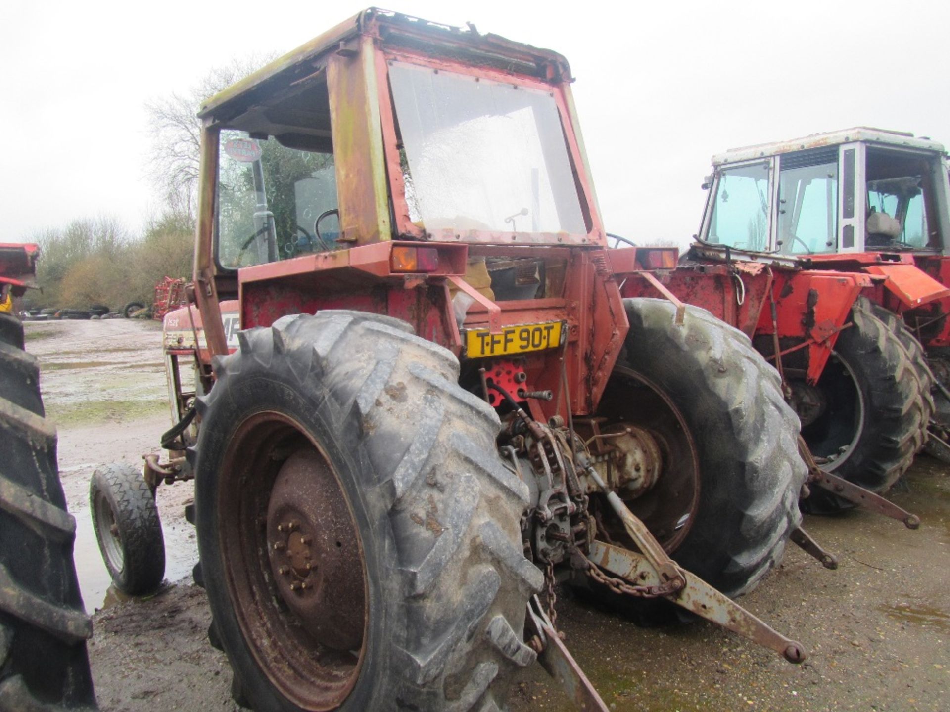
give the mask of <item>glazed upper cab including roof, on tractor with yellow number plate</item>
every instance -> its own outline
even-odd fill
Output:
[[[570,81],[555,52],[371,9],[213,97],[202,236],[222,295],[242,268],[400,240],[602,245]],[[394,254],[442,274],[468,256]],[[485,260],[519,268],[491,280],[500,298],[560,296],[542,261]]]

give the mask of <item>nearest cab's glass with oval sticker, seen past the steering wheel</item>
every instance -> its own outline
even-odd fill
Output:
[[[218,262],[237,268],[336,249],[333,154],[221,131],[218,165]]]

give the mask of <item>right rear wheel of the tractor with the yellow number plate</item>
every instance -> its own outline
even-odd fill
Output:
[[[688,306],[625,299],[630,332],[598,415],[645,429],[660,446],[651,490],[627,502],[683,568],[729,596],[745,593],[782,558],[801,522],[807,468],[798,418],[778,374],[749,338]],[[625,534],[601,508],[607,534]],[[666,602],[604,598],[642,618]]]

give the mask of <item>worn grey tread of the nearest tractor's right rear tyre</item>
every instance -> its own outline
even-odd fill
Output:
[[[746,593],[782,560],[788,535],[801,523],[798,494],[807,468],[798,454],[798,417],[782,397],[778,373],[742,331],[692,305],[676,327],[675,307],[666,300],[625,299],[624,306],[631,322],[628,345],[641,339],[646,350],[640,358],[656,360],[650,349],[656,349],[656,339],[668,339],[689,364],[695,387],[708,390],[731,422],[729,448],[740,475],[727,506],[739,524],[721,534],[717,546],[729,561],[723,580],[711,583],[729,596]],[[689,558],[700,555],[693,548],[681,545],[674,558],[691,568]]]

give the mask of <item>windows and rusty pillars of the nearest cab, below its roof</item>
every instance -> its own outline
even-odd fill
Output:
[[[473,74],[403,47],[350,51],[251,106],[205,107],[218,135],[221,272],[392,239],[597,238],[567,106],[535,66]],[[548,62],[545,74],[566,72]],[[365,122],[343,108],[357,81],[371,94]],[[372,220],[358,217],[366,203]]]

